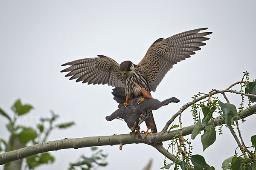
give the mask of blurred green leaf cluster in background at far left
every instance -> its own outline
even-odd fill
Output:
[[[5,111],[3,111],[3,109],[0,108],[0,115],[4,116],[9,120],[9,123],[6,125],[6,127],[10,133],[9,140],[3,138],[0,139],[0,151],[12,151],[21,147],[26,147],[26,145],[31,143],[37,144],[40,142],[45,142],[53,129],[64,129],[74,125],[74,122],[67,122],[55,125],[55,121],[58,119],[59,116],[54,112],[52,112],[52,116],[50,118],[41,118],[40,123],[37,125],[36,128],[18,125],[17,119],[19,119],[21,116],[25,116],[26,114],[28,114],[33,107],[32,105],[22,104],[20,99],[18,99],[11,108],[14,112],[13,116],[10,116],[10,114],[6,113]],[[25,169],[34,169],[41,164],[48,164],[52,162],[54,162],[54,157],[51,156],[49,153],[29,156],[26,158]],[[9,165],[10,164],[6,164],[5,169],[7,169]]]

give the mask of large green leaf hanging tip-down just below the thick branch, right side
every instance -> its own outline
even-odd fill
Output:
[[[209,147],[211,144],[213,144],[215,140],[216,140],[215,128],[212,125],[205,127],[204,134],[201,136],[201,142],[203,144],[204,150],[207,147]]]

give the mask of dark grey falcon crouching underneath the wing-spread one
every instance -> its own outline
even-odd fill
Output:
[[[114,88],[112,94],[114,95],[114,100],[120,103],[119,109],[113,112],[110,116],[106,116],[106,120],[111,121],[113,119],[123,119],[133,133],[135,130],[140,129],[139,125],[145,121],[145,116],[143,115],[143,113],[145,113],[144,111],[157,110],[158,108],[168,105],[169,103],[180,102],[179,99],[172,97],[164,100],[163,102],[160,102],[157,99],[147,99],[138,105],[137,103],[143,98],[143,96],[136,96],[132,99],[130,105],[125,107],[122,104],[122,102],[125,101],[125,97],[123,97],[122,94],[122,88]],[[147,134],[148,133],[145,134],[145,137]]]

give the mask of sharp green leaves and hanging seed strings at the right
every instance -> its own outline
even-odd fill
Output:
[[[240,82],[241,84],[241,93],[245,94],[256,94],[256,80],[254,79],[253,82],[249,82],[249,77],[248,77],[248,72],[244,72],[244,76],[242,78],[242,81]],[[244,82],[243,79],[246,79]],[[239,84],[239,83],[236,83]],[[234,85],[236,85],[234,84]],[[230,86],[230,87],[233,87]],[[215,89],[214,89],[215,90]],[[212,92],[212,91],[211,91]],[[233,104],[230,104],[227,96],[223,94],[224,98],[226,99],[227,103],[221,102],[221,100],[218,97],[211,96],[209,94],[203,94],[203,95],[209,95],[207,100],[199,100],[199,97],[202,95],[202,93],[198,93],[192,97],[192,117],[195,120],[195,126],[194,129],[191,133],[191,139],[195,139],[196,136],[198,136],[202,130],[203,133],[201,134],[201,143],[203,146],[203,151],[206,150],[210,145],[212,145],[215,140],[216,140],[216,122],[215,118],[213,115],[217,113],[218,119],[220,120],[217,125],[220,125],[218,128],[219,133],[222,134],[221,128],[223,125],[228,127],[230,129],[230,133],[234,136],[239,136],[241,142],[239,139],[236,139],[236,142],[238,143],[238,147],[241,150],[241,155],[238,155],[238,153],[235,151],[235,155],[231,158],[226,159],[223,164],[222,168],[223,170],[256,170],[256,152],[255,152],[255,146],[256,146],[256,136],[251,137],[251,142],[254,150],[250,151],[243,143],[243,140],[241,138],[241,132],[239,130],[239,123],[238,123],[238,118],[239,118],[239,113],[243,111],[244,108],[244,96],[241,95],[242,102],[239,107],[239,112],[236,109],[236,106]],[[211,99],[214,99],[211,101]],[[197,102],[198,103],[197,103]],[[248,96],[248,108],[250,108],[250,103],[256,102],[256,98],[254,96]],[[203,113],[203,114],[200,114]],[[201,118],[202,116],[202,118]],[[242,120],[244,122],[244,120]],[[233,127],[236,127],[238,130],[238,135],[236,135],[236,132],[234,131]],[[172,128],[170,128],[171,130]],[[175,140],[172,140],[171,143],[169,144],[169,147],[172,146],[174,148],[175,145],[177,145],[177,151],[172,152],[175,154],[176,161],[172,162],[170,164],[166,164],[166,160],[164,161],[164,166],[162,169],[169,169],[172,165],[175,165],[174,169],[180,168],[182,170],[189,170],[191,167],[193,167],[194,170],[215,170],[214,167],[209,166],[204,157],[201,155],[192,155],[192,146],[191,142],[188,141],[189,139],[186,140],[186,145],[188,147],[185,147],[185,143],[183,144],[184,150],[180,151],[179,148],[181,147]],[[169,148],[168,148],[169,149]],[[183,154],[182,156],[181,153],[186,153]]]

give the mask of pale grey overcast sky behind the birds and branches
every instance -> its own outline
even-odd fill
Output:
[[[50,116],[50,110],[61,116],[58,122],[76,122],[70,129],[53,131],[49,141],[129,133],[125,122],[105,120],[117,107],[112,87],[70,81],[60,73],[64,69],[61,64],[98,54],[118,63],[131,60],[137,64],[158,38],[208,27],[207,31],[213,33],[207,36],[210,38],[207,45],[191,58],[174,65],[152,93],[159,100],[180,99],[178,104],[153,111],[160,131],[198,91],[225,89],[241,80],[243,71],[250,72],[251,79],[256,78],[255,6],[253,0],[210,3],[195,0],[0,0],[0,108],[11,114],[10,106],[20,98],[23,103],[34,106],[26,120],[20,119],[22,125],[35,127],[41,116]],[[238,107],[239,95],[228,97]],[[193,123],[189,110],[183,113],[183,126]],[[244,124],[240,123],[247,145],[250,145],[250,136],[255,135],[252,130],[255,119],[253,115]],[[0,138],[9,138],[7,123],[1,116]],[[141,129],[146,130],[145,123]],[[193,154],[202,154],[216,169],[221,168],[222,161],[232,156],[236,148],[227,130],[204,152],[200,136],[193,144]],[[168,142],[164,142],[164,146],[167,145]],[[109,163],[102,169],[140,170],[149,159],[153,159],[151,170],[163,166],[164,156],[145,144],[125,145],[122,151],[118,145],[101,149],[108,153]],[[67,169],[69,162],[76,161],[81,154],[91,154],[89,148],[51,153],[56,158],[55,163],[38,170]]]

